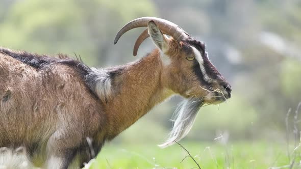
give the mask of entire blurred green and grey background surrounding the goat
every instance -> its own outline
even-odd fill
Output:
[[[220,156],[221,160],[213,160],[207,153],[207,161],[199,160],[201,166],[266,168],[292,161],[286,146],[290,145],[290,152],[295,147],[292,121],[301,101],[301,1],[0,0],[0,45],[49,55],[61,52],[74,57],[76,53],[94,67],[120,65],[155,48],[148,39],[140,47],[138,58],[132,57],[134,42],[143,28],[130,31],[113,45],[121,26],[143,16],[172,21],[204,41],[210,60],[232,84],[233,97],[220,105],[201,108],[191,132],[183,139],[183,145],[194,155],[206,147],[216,148],[215,159]],[[169,119],[180,101],[180,97],[173,97],[156,106],[105,146],[98,156],[102,164],[95,166],[155,168],[156,156],[158,161],[170,161],[165,163],[170,167],[195,166],[180,163],[186,154],[177,145],[164,150],[156,147],[172,127]],[[289,108],[292,113],[286,129]],[[295,123],[296,127],[298,124]],[[275,144],[274,148],[271,144]],[[139,149],[137,152],[148,164],[135,156],[128,158],[131,153],[120,155],[119,150],[126,148],[129,152]],[[234,160],[227,157],[231,149],[236,152]],[[241,153],[255,150],[258,155],[254,157],[262,160],[261,157],[268,156],[270,161],[262,162],[264,165],[256,160],[245,165],[234,162],[253,160],[254,157]],[[275,152],[264,153],[270,150]],[[280,163],[277,152],[283,158]],[[171,160],[175,154],[179,158]]]

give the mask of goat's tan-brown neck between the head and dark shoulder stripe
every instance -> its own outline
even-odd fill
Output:
[[[152,107],[172,95],[171,90],[164,88],[162,70],[160,51],[157,49],[124,67],[123,73],[115,79],[119,80],[116,82],[119,85],[112,87],[117,92],[107,102],[109,138],[127,129]]]

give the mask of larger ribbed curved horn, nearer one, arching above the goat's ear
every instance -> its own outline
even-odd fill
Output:
[[[132,30],[136,27],[146,27],[149,21],[153,20],[159,27],[162,32],[165,32],[167,35],[171,36],[175,40],[184,40],[188,39],[190,36],[187,34],[180,26],[174,24],[168,20],[156,18],[156,17],[142,17],[134,19],[124,25],[119,32],[117,33],[114,44],[116,44],[119,38],[129,30]]]

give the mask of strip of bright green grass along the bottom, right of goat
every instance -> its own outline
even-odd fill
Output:
[[[204,168],[289,168],[287,144],[280,143],[185,143],[181,142]],[[290,146],[290,153],[294,150]],[[300,168],[300,151],[294,151],[294,168]],[[198,168],[179,145],[160,149],[155,144],[107,144],[91,168]],[[183,160],[183,158],[185,158]],[[293,158],[293,155],[290,155]],[[183,160],[183,162],[181,162]]]

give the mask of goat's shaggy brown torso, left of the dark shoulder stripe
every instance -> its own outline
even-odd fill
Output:
[[[64,149],[71,159],[89,153],[86,137],[101,148],[105,112],[76,71],[63,64],[36,69],[4,54],[0,69],[0,147],[26,147],[34,162],[64,158]]]

